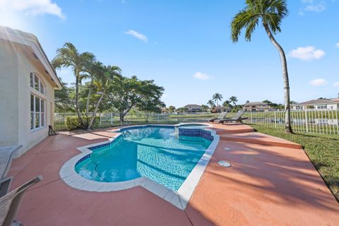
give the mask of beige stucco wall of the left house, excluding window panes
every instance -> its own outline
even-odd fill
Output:
[[[27,53],[27,47],[21,49],[20,46],[13,46],[6,49],[0,40],[0,56],[10,55],[6,59],[11,64],[4,64],[0,61],[1,66],[1,129],[0,129],[0,146],[23,145],[19,155],[26,150],[42,141],[48,136],[48,125],[52,124],[54,112],[54,85],[47,79],[46,72],[35,59],[33,55]],[[8,52],[11,52],[8,54]],[[16,52],[16,54],[14,54]],[[4,69],[4,70],[3,70]],[[3,73],[2,71],[6,71]],[[30,73],[35,72],[45,85],[45,95],[30,88]],[[3,81],[12,81],[11,85]],[[2,91],[4,88],[5,91]],[[6,95],[2,93],[6,92]],[[30,93],[34,93],[46,100],[45,127],[35,131],[30,130]],[[4,107],[3,107],[4,106]],[[3,122],[6,121],[6,122]]]

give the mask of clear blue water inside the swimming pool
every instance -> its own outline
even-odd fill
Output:
[[[76,172],[97,182],[148,177],[177,191],[210,143],[202,137],[176,136],[173,126],[127,129],[111,145],[93,149]]]

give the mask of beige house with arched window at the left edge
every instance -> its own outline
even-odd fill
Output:
[[[23,145],[19,155],[48,136],[54,123],[57,74],[35,35],[0,26],[0,147]]]

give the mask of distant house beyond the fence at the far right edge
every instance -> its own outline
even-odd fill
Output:
[[[339,102],[335,102],[333,100],[309,100],[307,102],[302,102],[299,104],[292,105],[292,109],[294,110],[306,110],[306,109],[316,109],[316,110],[336,110]]]

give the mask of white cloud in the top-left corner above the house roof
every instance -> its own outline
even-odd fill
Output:
[[[0,0],[0,11],[16,11],[32,16],[50,14],[65,18],[61,8],[51,0]]]

